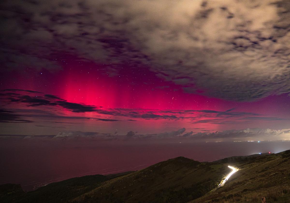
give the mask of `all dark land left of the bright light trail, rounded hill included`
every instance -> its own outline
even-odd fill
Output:
[[[6,202],[188,202],[214,189],[230,171],[224,163],[177,157],[115,178],[95,175],[48,184],[8,195]]]

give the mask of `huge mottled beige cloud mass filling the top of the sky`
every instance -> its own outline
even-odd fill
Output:
[[[110,77],[119,64],[148,65],[211,97],[290,92],[289,1],[1,1],[1,8],[0,61],[9,69],[59,70],[52,59],[65,52],[109,64]]]

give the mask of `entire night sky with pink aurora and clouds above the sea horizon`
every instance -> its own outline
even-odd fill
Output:
[[[290,138],[290,1],[0,6],[2,137]]]

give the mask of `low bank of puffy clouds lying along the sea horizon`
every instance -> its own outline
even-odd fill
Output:
[[[233,140],[289,140],[290,129],[260,129],[260,128],[246,128],[242,130],[228,130],[217,132],[186,132],[185,128],[176,131],[154,133],[154,134],[139,134],[130,131],[126,135],[119,135],[115,133],[98,133],[98,132],[82,132],[82,131],[61,131],[57,135],[1,135],[0,138],[20,138],[20,139],[95,139],[106,141],[130,141],[130,140],[180,140],[180,141],[215,141],[226,139],[227,141]]]

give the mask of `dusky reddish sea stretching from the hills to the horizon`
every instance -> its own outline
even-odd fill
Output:
[[[112,144],[2,139],[0,184],[21,184],[31,191],[72,177],[136,171],[179,156],[210,162],[289,148],[289,141]]]

